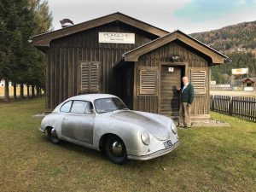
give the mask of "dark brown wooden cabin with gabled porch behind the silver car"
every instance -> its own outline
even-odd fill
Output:
[[[45,111],[70,96],[110,93],[133,110],[177,117],[181,78],[195,87],[194,119],[209,119],[211,67],[227,58],[183,32],[115,13],[32,37],[47,55]]]

